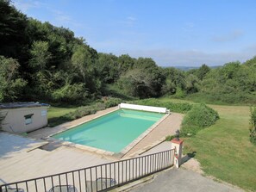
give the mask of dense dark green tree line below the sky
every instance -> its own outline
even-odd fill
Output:
[[[70,29],[28,18],[8,0],[0,0],[0,28],[0,102],[87,101],[113,94],[109,85],[137,98],[256,102],[256,58],[180,71],[159,67],[150,58],[97,53]]]

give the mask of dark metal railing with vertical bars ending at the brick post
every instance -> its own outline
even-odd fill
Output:
[[[0,185],[0,192],[94,192],[114,189],[174,164],[174,149]]]

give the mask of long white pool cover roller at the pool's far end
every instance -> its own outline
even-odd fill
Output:
[[[146,105],[134,105],[134,104],[127,104],[127,103],[119,104],[119,108],[128,108],[128,109],[150,111],[150,112],[157,112],[157,113],[164,113],[164,114],[170,112],[169,110],[167,110],[167,108],[158,108],[158,107],[152,107],[152,106],[146,106]]]

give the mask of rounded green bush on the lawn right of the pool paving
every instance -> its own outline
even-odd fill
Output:
[[[181,132],[194,135],[204,127],[215,124],[219,119],[218,113],[205,104],[195,104],[193,108],[184,116]]]

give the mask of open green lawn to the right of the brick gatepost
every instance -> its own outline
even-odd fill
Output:
[[[203,171],[242,189],[256,191],[256,146],[249,141],[249,107],[209,105],[221,119],[195,137],[184,151],[196,152]]]

